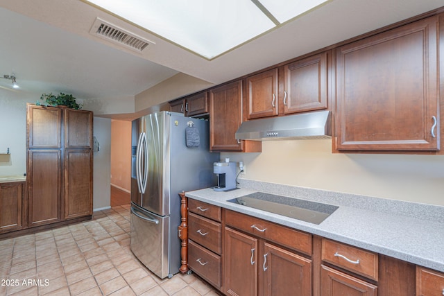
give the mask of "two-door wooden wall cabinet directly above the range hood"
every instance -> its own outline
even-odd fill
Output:
[[[249,76],[246,85],[248,119],[326,109],[327,52]]]

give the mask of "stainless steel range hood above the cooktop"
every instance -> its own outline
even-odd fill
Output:
[[[241,140],[330,139],[330,111],[245,121],[236,132]]]

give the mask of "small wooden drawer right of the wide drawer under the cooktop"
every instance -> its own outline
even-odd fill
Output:
[[[322,260],[377,281],[376,253],[323,238]]]

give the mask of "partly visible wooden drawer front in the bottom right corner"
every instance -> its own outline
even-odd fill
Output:
[[[416,295],[444,295],[444,273],[416,266]]]

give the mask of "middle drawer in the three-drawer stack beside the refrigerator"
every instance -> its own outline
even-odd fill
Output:
[[[221,254],[221,223],[189,213],[188,238]]]

